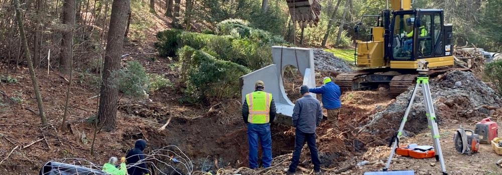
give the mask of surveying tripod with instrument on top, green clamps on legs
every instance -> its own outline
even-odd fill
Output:
[[[426,110],[426,116],[427,116],[427,121],[429,124],[429,128],[431,129],[431,134],[432,134],[432,142],[434,143],[434,152],[436,154],[436,161],[439,161],[441,164],[441,171],[443,172],[443,175],[447,175],[446,173],[446,167],[444,165],[444,158],[443,158],[443,152],[441,151],[441,145],[439,144],[439,129],[438,129],[438,124],[436,122],[436,114],[434,113],[434,105],[432,102],[432,97],[431,97],[431,91],[429,89],[429,76],[427,76],[427,72],[429,69],[427,68],[428,66],[427,61],[418,61],[418,72],[419,75],[417,77],[417,84],[415,85],[415,88],[413,88],[413,93],[411,95],[410,102],[408,103],[408,107],[406,108],[405,115],[403,116],[403,120],[401,121],[401,126],[399,126],[399,130],[395,135],[395,139],[393,139],[391,142],[394,142],[392,149],[391,149],[391,154],[389,156],[389,159],[387,160],[387,164],[385,165],[385,168],[383,168],[383,171],[387,171],[389,169],[389,166],[391,165],[392,157],[394,156],[394,153],[396,152],[396,147],[398,146],[399,143],[399,136],[402,135],[403,128],[405,127],[406,120],[408,119],[408,114],[410,113],[411,106],[413,104],[413,100],[415,100],[415,95],[417,93],[418,86],[422,86],[422,93],[424,95],[424,102],[425,102],[425,110]]]

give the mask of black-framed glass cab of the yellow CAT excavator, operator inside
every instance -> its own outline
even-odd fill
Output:
[[[444,25],[442,9],[395,11],[393,16],[386,54],[391,68],[414,68],[406,61],[418,59],[429,59],[431,67],[452,64],[445,57],[451,56],[451,25]]]

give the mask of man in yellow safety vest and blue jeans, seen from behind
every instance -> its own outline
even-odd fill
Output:
[[[255,91],[246,94],[242,103],[242,119],[247,124],[247,142],[249,144],[249,168],[258,168],[258,139],[262,145],[262,164],[264,168],[272,163],[272,136],[270,123],[276,116],[276,104],[272,93],[263,89],[265,83],[256,81]]]

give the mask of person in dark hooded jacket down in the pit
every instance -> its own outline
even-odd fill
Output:
[[[146,146],[147,146],[147,141],[143,139],[138,139],[134,143],[134,148],[129,150],[129,152],[127,153],[126,162],[128,164],[127,173],[129,175],[149,174],[150,171],[148,170],[147,164],[145,162],[137,164],[139,161],[145,160],[145,154],[143,153],[143,150],[145,150]]]

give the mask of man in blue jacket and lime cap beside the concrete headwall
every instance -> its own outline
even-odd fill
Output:
[[[328,111],[328,123],[331,127],[338,128],[338,113],[340,113],[340,87],[331,81],[331,78],[324,77],[322,80],[324,85],[316,88],[310,88],[309,92],[322,95],[322,105]]]

